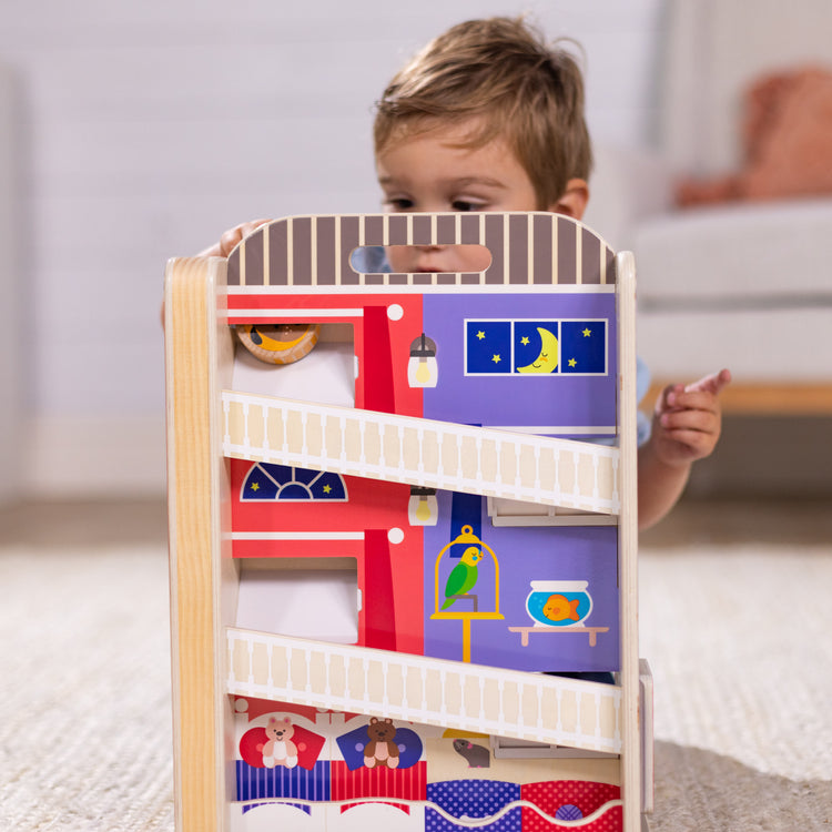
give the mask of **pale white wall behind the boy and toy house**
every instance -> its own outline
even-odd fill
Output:
[[[372,104],[424,41],[528,9],[582,43],[596,140],[637,146],[660,4],[3,0],[22,112],[20,488],[161,493],[165,260],[246,219],[377,210]]]

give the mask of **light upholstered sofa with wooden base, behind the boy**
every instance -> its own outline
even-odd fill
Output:
[[[657,146],[598,148],[586,217],[636,254],[638,349],[653,393],[726,366],[729,414],[832,415],[832,191],[676,200],[680,177],[745,163],[751,84],[832,69],[832,2],[670,0],[663,14]]]

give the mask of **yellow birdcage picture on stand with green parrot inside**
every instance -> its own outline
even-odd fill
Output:
[[[448,572],[445,579],[444,598],[440,600],[439,571],[443,558],[455,546],[464,546],[459,562]],[[483,588],[471,591],[479,586],[479,564],[490,556],[494,566],[494,597],[488,592],[491,603],[481,605]],[[497,556],[488,544],[474,534],[471,526],[463,526],[461,531],[450,542],[446,544],[436,556],[434,566],[434,612],[432,619],[456,620],[463,622],[463,661],[470,662],[470,629],[471,621],[498,620],[505,618],[499,610],[500,603],[500,567]],[[480,607],[493,607],[486,609]],[[451,609],[454,608],[454,609]]]

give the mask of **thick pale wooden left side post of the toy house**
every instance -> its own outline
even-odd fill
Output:
[[[220,390],[231,379],[225,261],[171,260],[165,272],[168,499],[175,822],[227,829],[230,704],[224,628],[236,609],[236,567],[220,436]]]

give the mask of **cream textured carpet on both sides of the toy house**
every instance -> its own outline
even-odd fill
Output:
[[[166,556],[0,549],[0,830],[172,830]],[[832,546],[648,549],[655,832],[832,830]]]

